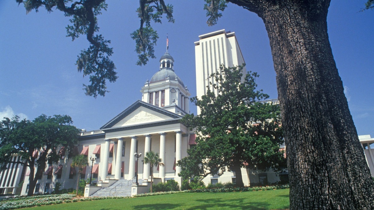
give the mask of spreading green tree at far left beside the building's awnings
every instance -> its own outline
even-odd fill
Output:
[[[72,123],[71,117],[67,115],[40,115],[33,121],[19,120],[15,116],[0,122],[0,164],[6,167],[8,163],[19,163],[30,168],[28,196],[33,195],[36,182],[46,168],[46,161],[57,163],[62,146],[68,152],[68,157],[74,154],[79,129]],[[21,159],[12,159],[14,154]]]

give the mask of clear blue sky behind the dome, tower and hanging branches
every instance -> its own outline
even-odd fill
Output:
[[[168,2],[168,1],[167,1]],[[98,17],[100,31],[111,40],[112,59],[119,78],[108,83],[109,93],[96,99],[85,96],[82,84],[88,78],[77,72],[80,50],[89,46],[85,37],[65,37],[68,18],[62,12],[26,15],[22,5],[0,0],[0,117],[19,115],[33,120],[40,114],[67,114],[80,129],[95,130],[141,99],[140,89],[159,70],[169,34],[169,53],[174,70],[196,95],[194,41],[201,34],[226,29],[234,31],[247,70],[260,74],[259,89],[277,98],[275,71],[269,38],[260,18],[229,4],[213,27],[206,25],[202,0],[169,1],[174,5],[175,23],[153,24],[160,39],[156,59],[137,66],[135,43],[130,33],[139,27],[135,10],[138,1],[108,1]],[[359,135],[374,137],[374,10],[359,12],[365,0],[333,0],[328,13],[328,33],[335,62]],[[190,105],[191,113],[196,107]]]

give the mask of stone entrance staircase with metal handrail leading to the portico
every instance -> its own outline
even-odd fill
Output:
[[[127,179],[120,179],[107,188],[99,189],[91,196],[131,196],[131,185],[131,180],[129,182]]]

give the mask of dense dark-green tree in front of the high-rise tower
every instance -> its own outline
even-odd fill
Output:
[[[184,179],[222,175],[229,169],[235,172],[236,185],[241,187],[241,168],[285,167],[283,152],[279,151],[283,143],[279,106],[259,102],[269,96],[256,90],[257,73],[248,72],[242,82],[242,70],[243,66],[221,66],[211,74],[216,83],[207,86],[211,88],[206,95],[191,98],[201,114],[187,114],[182,119],[191,130],[196,129],[197,135],[197,145],[178,162]]]

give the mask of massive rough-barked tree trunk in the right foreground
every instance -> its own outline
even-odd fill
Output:
[[[328,40],[329,0],[232,2],[257,13],[269,35],[291,209],[374,209],[374,183]]]

